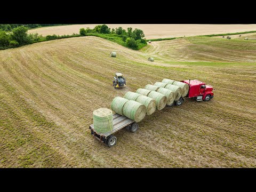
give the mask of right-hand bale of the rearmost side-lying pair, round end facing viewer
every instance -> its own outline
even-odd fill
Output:
[[[137,101],[129,100],[124,104],[123,114],[135,122],[140,122],[146,115],[146,107]]]

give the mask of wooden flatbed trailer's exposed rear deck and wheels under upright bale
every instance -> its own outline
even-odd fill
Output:
[[[113,133],[123,129],[124,127],[133,133],[139,129],[139,125],[134,120],[119,114],[113,115],[113,130],[107,133],[99,133],[94,130],[93,124],[89,126],[89,129],[91,130],[91,134],[94,136],[94,138],[105,143],[109,147],[113,147],[117,142],[117,138],[113,135]]]

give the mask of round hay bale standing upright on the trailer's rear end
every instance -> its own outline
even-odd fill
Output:
[[[94,130],[107,133],[113,130],[113,114],[110,109],[99,108],[93,111]]]

